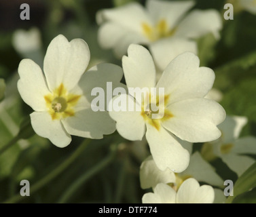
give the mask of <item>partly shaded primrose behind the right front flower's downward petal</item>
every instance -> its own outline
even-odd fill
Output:
[[[141,188],[155,188],[158,183],[170,184],[177,190],[188,178],[196,178],[199,182],[206,182],[214,186],[223,186],[223,180],[216,174],[215,169],[202,159],[200,153],[191,155],[189,166],[181,173],[174,173],[170,169],[159,170],[151,156],[141,164]]]

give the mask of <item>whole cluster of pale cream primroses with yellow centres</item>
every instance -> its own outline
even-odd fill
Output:
[[[191,142],[206,142],[207,154],[221,157],[238,175],[254,162],[240,155],[256,153],[255,138],[238,139],[246,119],[227,117],[224,121],[222,106],[206,98],[215,73],[200,67],[194,39],[206,33],[218,39],[222,22],[216,10],[191,10],[194,5],[194,1],[148,0],[146,8],[130,3],[98,12],[99,43],[112,48],[117,58],[123,56],[122,68],[102,63],[86,71],[90,61],[87,43],[82,39],[69,42],[63,35],[48,46],[43,72],[29,59],[18,67],[18,90],[35,111],[31,114],[33,129],[56,146],[70,144],[71,135],[100,139],[115,130],[128,140],[142,140],[145,135],[152,156],[141,165],[141,187],[153,188],[153,193],[145,194],[143,203],[216,200],[218,190],[200,186],[198,181],[221,187],[223,180],[206,162],[206,155],[202,157],[203,152],[192,154]],[[163,71],[160,79],[157,69]],[[115,96],[111,103],[125,101],[142,111],[108,112],[109,105],[105,105],[105,111],[95,112],[92,89],[106,90],[107,82],[113,88],[124,87],[123,75],[127,87],[164,88],[161,118],[153,119],[155,111],[150,109],[158,100],[149,100],[149,111],[145,111],[145,103],[129,92]]]

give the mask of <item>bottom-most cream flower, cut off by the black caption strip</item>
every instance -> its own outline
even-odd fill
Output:
[[[178,192],[168,184],[160,183],[153,189],[154,193],[143,195],[143,203],[213,203],[215,192],[212,186],[200,186],[194,178],[181,184]]]

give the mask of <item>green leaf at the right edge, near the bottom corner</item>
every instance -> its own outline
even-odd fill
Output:
[[[226,203],[232,203],[232,201],[242,193],[246,193],[256,187],[256,163],[253,163],[246,172],[242,174],[234,185],[234,196],[227,198]]]

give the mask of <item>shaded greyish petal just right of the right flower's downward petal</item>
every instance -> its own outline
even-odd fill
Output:
[[[181,173],[181,175],[191,175],[196,178],[198,182],[206,182],[214,186],[223,186],[223,180],[215,172],[214,167],[206,162],[198,152],[191,156],[187,170]]]

